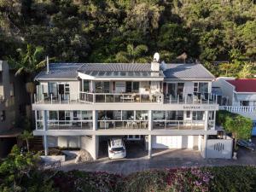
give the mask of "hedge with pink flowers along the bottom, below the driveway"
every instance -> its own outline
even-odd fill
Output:
[[[247,192],[256,191],[256,167],[177,168],[135,172],[128,176],[109,172],[32,170],[15,184],[19,190],[14,190],[11,183],[1,183],[0,179],[0,191]]]

